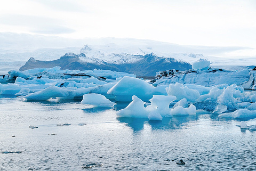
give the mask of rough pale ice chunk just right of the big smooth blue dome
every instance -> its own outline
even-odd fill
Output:
[[[195,102],[200,96],[195,89],[190,89],[180,83],[170,84],[169,87],[166,87],[166,92],[168,95],[176,96],[177,100],[186,98],[190,102]]]

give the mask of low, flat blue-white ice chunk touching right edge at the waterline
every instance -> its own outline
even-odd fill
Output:
[[[255,118],[256,117],[256,111],[255,110],[248,110],[248,109],[238,109],[234,112],[230,113],[222,113],[219,115],[221,118],[235,118],[235,119],[241,119],[241,118]]]

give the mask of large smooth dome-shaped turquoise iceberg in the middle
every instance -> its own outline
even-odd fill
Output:
[[[153,96],[154,88],[144,80],[125,76],[107,94],[114,95],[116,101],[131,101],[133,95],[148,101]]]

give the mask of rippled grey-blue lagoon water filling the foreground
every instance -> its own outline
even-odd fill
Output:
[[[256,132],[240,123],[211,114],[116,118],[115,109],[80,101],[2,97],[0,152],[13,153],[0,153],[0,170],[255,170]]]

